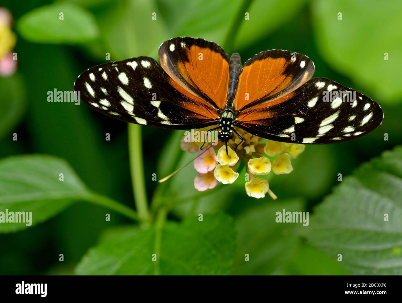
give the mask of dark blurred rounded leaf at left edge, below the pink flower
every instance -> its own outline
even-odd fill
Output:
[[[12,130],[21,119],[25,107],[25,89],[21,77],[0,77],[0,138]],[[11,140],[11,137],[10,137]]]

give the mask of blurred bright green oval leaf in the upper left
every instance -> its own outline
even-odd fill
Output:
[[[63,20],[60,20],[63,14]],[[36,8],[17,21],[18,32],[36,43],[81,43],[98,37],[92,14],[73,3],[62,2]]]

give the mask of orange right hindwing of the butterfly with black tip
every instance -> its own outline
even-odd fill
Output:
[[[313,76],[314,63],[305,55],[273,49],[256,54],[244,64],[234,99],[236,111],[264,108],[288,95]]]

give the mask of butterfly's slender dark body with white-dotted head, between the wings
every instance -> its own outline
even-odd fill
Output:
[[[221,121],[219,126],[221,129],[218,132],[218,139],[223,142],[227,142],[233,138],[233,125],[235,120],[235,109],[234,109],[234,96],[236,95],[236,89],[239,82],[240,70],[242,68],[242,62],[240,55],[234,53],[230,56],[229,65],[229,89],[228,89],[228,102],[221,115]]]

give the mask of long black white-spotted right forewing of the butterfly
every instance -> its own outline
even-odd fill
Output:
[[[263,108],[241,112],[236,126],[279,142],[328,144],[363,136],[383,117],[381,107],[365,95],[326,78],[313,78]]]

